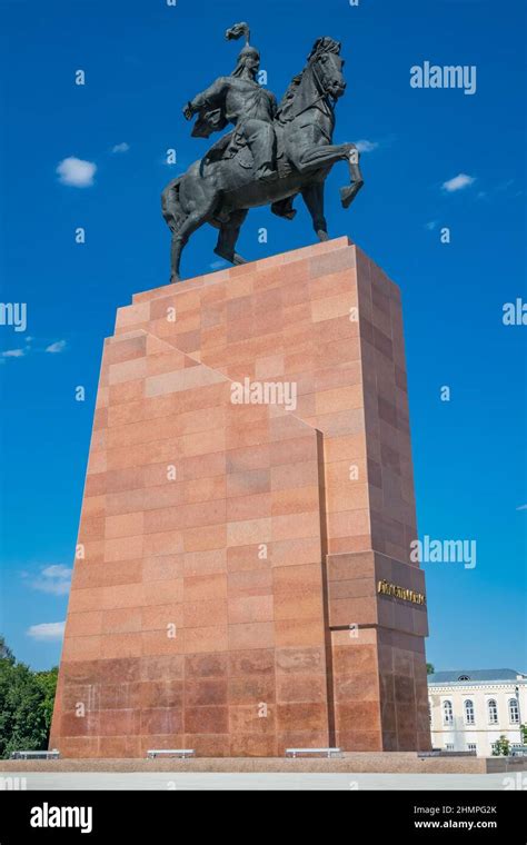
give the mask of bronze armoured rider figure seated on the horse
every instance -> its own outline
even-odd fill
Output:
[[[277,101],[274,93],[256,81],[259,67],[260,53],[247,43],[232,73],[220,77],[210,88],[188,102],[183,115],[187,120],[191,120],[199,112],[192,131],[198,137],[208,138],[211,132],[232,123],[235,138],[237,136],[238,141],[243,139],[252,153],[257,179],[272,181],[277,178],[276,136],[272,127]]]

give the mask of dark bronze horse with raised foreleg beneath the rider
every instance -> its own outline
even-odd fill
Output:
[[[235,265],[245,264],[236,252],[236,242],[248,210],[271,203],[275,213],[292,219],[292,200],[298,193],[319,240],[328,239],[324,182],[331,167],[336,161],[348,161],[350,183],[340,189],[344,208],[364,185],[356,146],[331,143],[335,106],[346,89],[342,67],[340,44],[329,38],[318,39],[306,68],[292,79],[278,107],[274,122],[278,178],[274,182],[255,178],[252,157],[247,147],[232,146],[232,132],[167,185],[161,208],[172,232],[170,281],[180,280],[183,247],[203,223],[219,229],[215,249],[218,256]],[[230,157],[223,157],[229,147]]]

